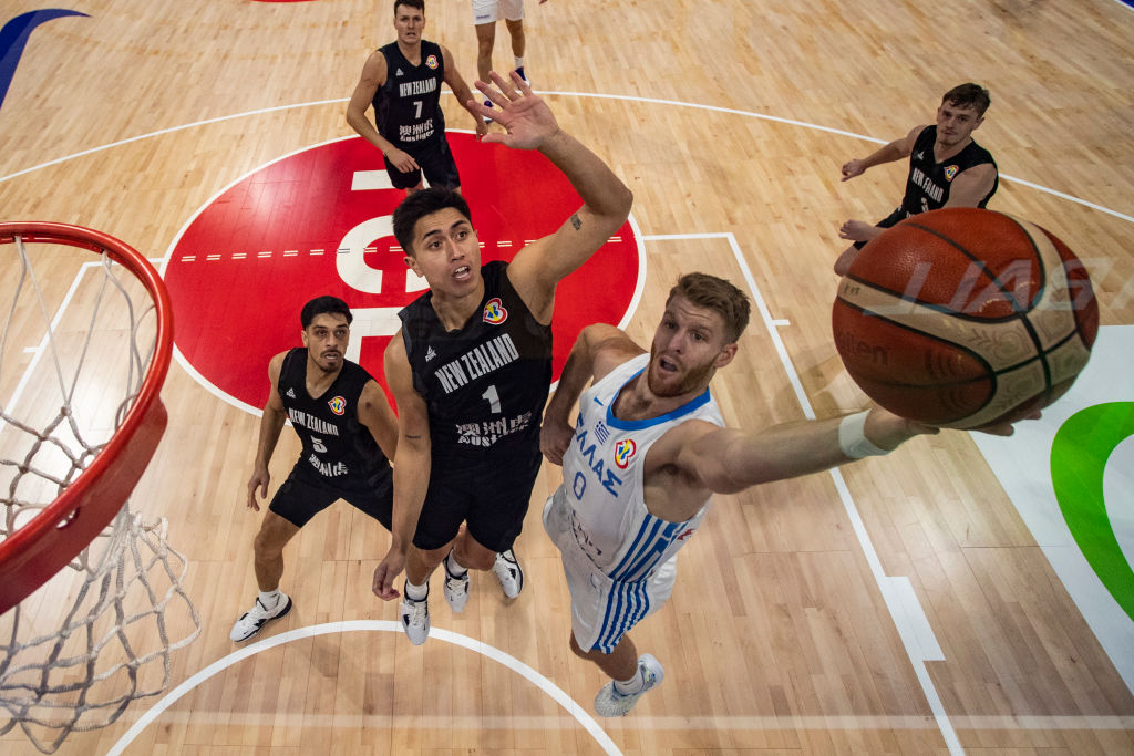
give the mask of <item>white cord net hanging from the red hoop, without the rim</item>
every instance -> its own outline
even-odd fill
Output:
[[[0,244],[0,297],[7,540],[113,438],[150,368],[158,324],[134,273],[105,250],[67,244]],[[166,519],[146,509],[122,504],[68,567],[0,617],[0,734],[18,725],[52,753],[70,732],[107,727],[169,686],[171,653],[201,621],[183,587],[186,560],[169,547]]]

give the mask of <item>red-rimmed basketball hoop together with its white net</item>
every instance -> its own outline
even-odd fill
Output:
[[[77,264],[76,248],[95,257]],[[127,501],[166,430],[172,316],[145,257],[91,229],[0,223],[0,734],[19,724],[51,753],[161,693],[170,652],[200,632],[164,519],[146,524]],[[49,589],[61,627],[44,635],[39,612],[22,628],[20,602]],[[193,626],[176,643],[174,600]],[[154,687],[144,672],[159,659]]]

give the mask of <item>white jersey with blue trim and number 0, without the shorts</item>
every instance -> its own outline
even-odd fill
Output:
[[[704,519],[711,498],[692,518],[669,523],[645,506],[643,468],[650,447],[692,419],[725,425],[709,390],[660,417],[620,421],[612,407],[623,387],[649,364],[631,359],[583,392],[575,438],[564,456],[564,487],[579,547],[613,580],[636,581],[669,560]]]

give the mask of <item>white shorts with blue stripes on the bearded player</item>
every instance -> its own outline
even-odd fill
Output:
[[[559,549],[570,589],[570,621],[583,651],[609,654],[631,628],[661,609],[674,592],[677,557],[637,583],[615,583],[575,541],[570,504],[560,486],[543,506],[543,529]]]

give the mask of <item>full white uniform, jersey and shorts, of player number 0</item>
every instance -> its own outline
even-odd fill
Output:
[[[677,409],[627,422],[613,414],[619,392],[649,364],[631,359],[579,397],[575,436],[564,455],[564,485],[549,500],[544,527],[562,552],[572,591],[575,640],[610,653],[619,639],[669,597],[677,552],[709,511],[670,523],[651,515],[644,496],[650,448],[674,426],[699,419],[723,426],[705,389]]]

